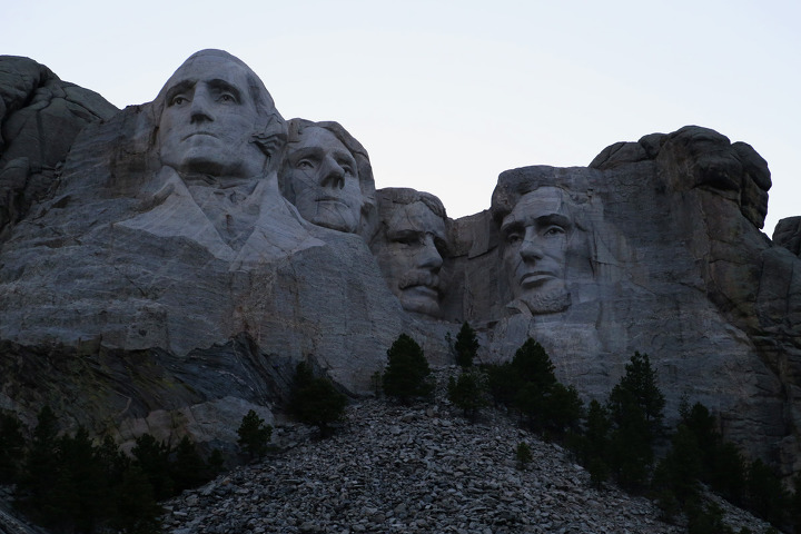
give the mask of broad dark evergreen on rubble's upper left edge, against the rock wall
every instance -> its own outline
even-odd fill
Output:
[[[330,434],[330,424],[345,415],[347,397],[337,392],[325,377],[315,377],[312,369],[300,362],[289,397],[289,411],[301,423],[315,425],[320,436]]]

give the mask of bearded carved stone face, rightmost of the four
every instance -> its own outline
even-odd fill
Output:
[[[556,187],[527,192],[501,224],[503,266],[512,295],[533,314],[570,305],[565,263],[573,222],[563,195]]]

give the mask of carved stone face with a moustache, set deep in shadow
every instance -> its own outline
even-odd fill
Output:
[[[374,253],[389,289],[404,309],[439,315],[445,221],[423,201],[415,201],[396,207],[385,224],[385,240]]]

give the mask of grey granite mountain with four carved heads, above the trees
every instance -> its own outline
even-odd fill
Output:
[[[248,409],[281,416],[298,362],[366,395],[399,334],[445,365],[468,322],[482,362],[533,337],[586,399],[647,353],[669,417],[702,402],[801,469],[801,224],[761,231],[744,142],[689,126],[506,170],[454,220],[224,51],[123,110],[27,58],[0,58],[0,408],[233,443]]]

